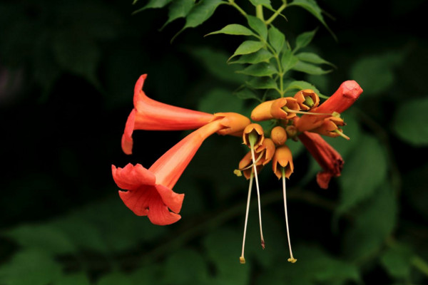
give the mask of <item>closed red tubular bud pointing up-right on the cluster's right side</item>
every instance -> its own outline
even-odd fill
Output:
[[[355,81],[345,81],[340,85],[336,92],[330,96],[319,107],[311,110],[312,113],[322,113],[326,115],[302,115],[300,120],[295,121],[295,126],[299,132],[305,130],[313,130],[322,125],[325,118],[331,116],[332,113],[342,113],[350,108],[362,93],[362,88]],[[330,115],[328,115],[330,114]]]

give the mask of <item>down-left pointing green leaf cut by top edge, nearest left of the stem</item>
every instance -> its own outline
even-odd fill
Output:
[[[200,0],[195,6],[190,10],[189,14],[186,16],[185,25],[181,31],[186,28],[194,28],[199,26],[214,14],[215,9],[223,4],[222,0]]]

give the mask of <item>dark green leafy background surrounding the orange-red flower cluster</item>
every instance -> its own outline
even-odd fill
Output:
[[[325,0],[320,9],[294,0],[266,30],[223,1],[134,2],[0,4],[1,285],[427,284],[425,1]],[[236,2],[267,16],[283,4]],[[211,31],[237,36],[203,37]],[[135,154],[121,153],[142,73],[156,100],[247,115],[278,95],[280,78],[286,94],[360,83],[343,114],[352,140],[327,140],[345,159],[329,190],[290,142],[296,264],[286,261],[280,182],[269,170],[260,175],[266,249],[253,203],[247,264],[238,262],[247,185],[233,175],[245,153],[236,138],[210,138],[185,170],[174,188],[186,195],[178,224],[154,226],[123,205],[111,163],[151,165],[180,136],[138,132]]]

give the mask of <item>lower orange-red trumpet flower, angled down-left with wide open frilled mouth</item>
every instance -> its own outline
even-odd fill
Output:
[[[139,164],[128,164],[123,168],[112,165],[114,181],[119,188],[127,190],[119,191],[126,206],[138,216],[148,216],[153,224],[177,222],[181,218],[178,212],[184,195],[173,192],[172,188],[202,142],[223,128],[221,120],[214,120],[195,130],[165,152],[148,170]]]

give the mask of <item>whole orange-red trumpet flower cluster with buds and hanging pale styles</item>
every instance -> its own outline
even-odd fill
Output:
[[[322,167],[322,172],[317,174],[318,185],[326,189],[330,179],[340,175],[343,160],[340,154],[320,135],[347,138],[340,128],[345,125],[340,118],[340,113],[349,108],[362,93],[362,89],[355,81],[345,81],[322,104],[313,90],[300,90],[293,97],[265,101],[254,108],[251,113],[253,121],[272,120],[273,128],[263,130],[260,125],[251,123],[249,118],[238,113],[208,114],[167,105],[148,98],[143,92],[145,80],[146,75],[141,76],[135,86],[134,108],[126,121],[121,141],[123,152],[131,155],[134,130],[194,131],[165,152],[148,169],[140,164],[128,164],[123,168],[112,165],[113,179],[121,188],[119,191],[121,199],[135,214],[147,216],[153,224],[166,225],[177,222],[180,219],[179,212],[184,194],[174,192],[173,187],[203,141],[214,133],[242,137],[250,151],[239,162],[235,174],[244,175],[250,180],[250,187],[241,263],[245,263],[245,230],[253,178],[255,178],[257,186],[260,236],[264,248],[258,172],[272,161],[273,172],[279,179],[282,178],[287,224],[285,178],[289,178],[294,171],[292,153],[286,145],[287,140],[300,140],[315,157]],[[289,235],[288,242],[290,244]],[[292,257],[291,247],[289,261],[296,261]]]

